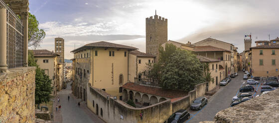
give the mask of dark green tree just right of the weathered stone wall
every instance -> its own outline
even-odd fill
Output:
[[[36,75],[35,75],[35,104],[37,104],[38,109],[40,109],[40,104],[47,103],[52,97],[51,91],[51,79],[45,74],[44,70],[37,65],[36,60],[34,59],[32,51],[28,51],[28,66],[36,66]]]

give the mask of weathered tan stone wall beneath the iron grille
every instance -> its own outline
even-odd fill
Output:
[[[13,68],[0,75],[0,123],[35,122],[35,69]]]

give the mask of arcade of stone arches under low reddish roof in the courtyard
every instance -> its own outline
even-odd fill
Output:
[[[142,93],[139,91],[134,91],[130,89],[123,89],[123,101],[133,100],[137,107],[145,107],[163,102],[170,98],[161,97],[157,95]]]

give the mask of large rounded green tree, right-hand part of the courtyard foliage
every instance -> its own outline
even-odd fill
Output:
[[[161,68],[160,86],[191,91],[204,82],[203,64],[190,51],[177,49]]]

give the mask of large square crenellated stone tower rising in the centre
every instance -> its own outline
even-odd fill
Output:
[[[155,11],[153,16],[145,19],[145,45],[146,53],[156,56],[159,60],[159,47],[167,42],[167,19],[158,16]]]

